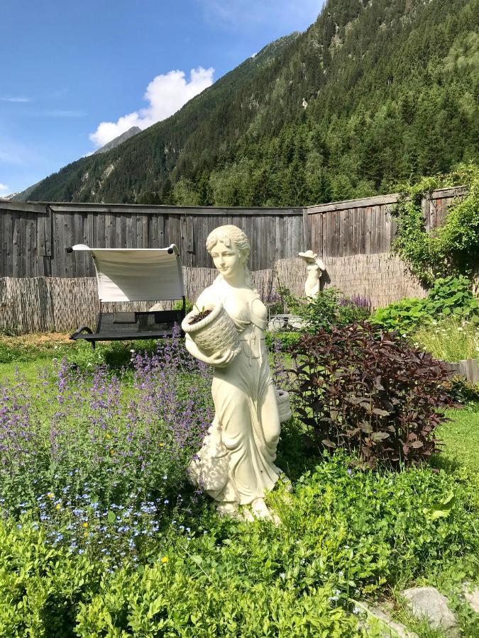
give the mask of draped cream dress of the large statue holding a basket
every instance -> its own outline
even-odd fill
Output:
[[[221,279],[205,294],[223,303],[238,330],[241,350],[228,366],[214,369],[215,417],[189,476],[212,498],[246,505],[263,498],[280,474],[273,464],[280,418],[265,347],[268,313],[256,291],[248,302],[241,301]]]

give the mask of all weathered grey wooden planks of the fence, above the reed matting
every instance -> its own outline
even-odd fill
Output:
[[[424,200],[426,228],[435,228],[454,196],[435,191]],[[94,276],[88,254],[65,248],[155,248],[175,243],[187,267],[211,267],[205,242],[221,224],[235,224],[250,238],[250,269],[312,248],[323,257],[390,250],[396,233],[391,216],[397,194],[308,208],[191,208],[94,203],[0,201],[0,277]]]

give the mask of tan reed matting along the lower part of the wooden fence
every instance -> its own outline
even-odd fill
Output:
[[[346,296],[360,295],[373,308],[405,296],[422,297],[422,286],[410,276],[406,264],[390,253],[325,257],[324,286],[337,286]],[[183,267],[186,294],[194,301],[217,276],[214,268]],[[267,301],[286,286],[294,296],[304,296],[307,271],[302,259],[278,259],[272,268],[253,271],[253,284]],[[174,302],[159,301],[161,308]],[[101,309],[148,310],[154,301],[103,303]],[[100,310],[96,277],[0,278],[0,332],[72,332],[82,325],[94,328]]]

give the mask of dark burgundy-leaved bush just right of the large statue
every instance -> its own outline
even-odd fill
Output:
[[[319,447],[363,464],[415,464],[438,451],[434,429],[452,405],[444,366],[397,332],[368,323],[319,330],[292,349],[297,415]]]

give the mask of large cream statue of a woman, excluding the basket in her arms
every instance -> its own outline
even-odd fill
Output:
[[[186,335],[190,354],[214,366],[215,408],[202,449],[189,466],[189,477],[219,501],[219,513],[246,520],[270,518],[265,491],[275,486],[281,471],[273,463],[280,418],[265,347],[268,311],[250,281],[250,244],[243,230],[233,225],[216,228],[207,238],[207,250],[219,275],[201,293],[197,307],[222,303],[236,326],[241,348],[207,356]],[[250,509],[240,512],[239,505]]]

